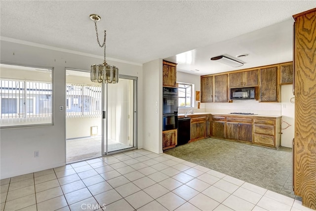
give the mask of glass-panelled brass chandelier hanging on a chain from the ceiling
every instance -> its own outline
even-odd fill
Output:
[[[104,61],[103,64],[93,64],[91,65],[91,72],[90,72],[90,80],[96,83],[103,83],[103,84],[116,84],[118,83],[118,68],[116,66],[108,65],[106,61],[106,51],[105,51],[105,41],[106,41],[106,31],[104,31],[104,41],[103,44],[100,44],[99,35],[98,35],[98,28],[97,28],[97,21],[101,20],[99,15],[92,14],[90,15],[91,20],[94,22],[94,27],[97,36],[97,42],[100,47],[104,47]]]

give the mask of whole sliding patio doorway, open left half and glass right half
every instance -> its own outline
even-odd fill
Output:
[[[97,84],[66,70],[66,163],[136,148],[136,88],[136,77]]]

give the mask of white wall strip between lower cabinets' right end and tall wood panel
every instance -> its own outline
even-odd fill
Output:
[[[292,85],[282,85],[282,123],[281,127],[286,129],[282,130],[281,146],[292,148],[292,139],[294,138],[294,103],[290,102],[290,99],[294,97],[292,92]],[[286,123],[285,123],[286,122]]]

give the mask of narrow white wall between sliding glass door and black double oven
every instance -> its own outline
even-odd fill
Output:
[[[143,148],[162,153],[162,59],[143,64]]]

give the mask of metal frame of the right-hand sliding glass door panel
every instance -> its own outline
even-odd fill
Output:
[[[111,84],[102,84],[102,138],[101,138],[101,155],[111,155],[111,154],[116,154],[120,152],[125,152],[125,151],[130,151],[133,149],[137,149],[138,146],[138,141],[137,141],[137,82],[138,82],[138,77],[134,76],[126,76],[126,75],[119,75],[119,79],[129,79],[133,80],[133,147],[127,148],[127,149],[121,149],[113,152],[108,152],[108,85]],[[119,81],[118,81],[119,83]],[[106,145],[105,145],[106,143]]]

